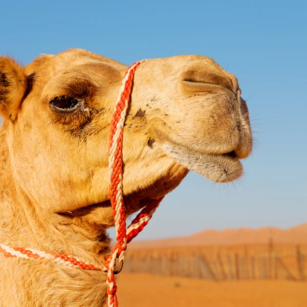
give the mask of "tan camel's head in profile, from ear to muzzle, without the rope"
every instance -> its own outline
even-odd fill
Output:
[[[0,58],[2,163],[44,216],[113,225],[108,142],[126,69],[80,49],[26,67]],[[237,79],[208,57],[139,66],[123,139],[128,214],[177,187],[188,170],[215,182],[242,175],[252,136],[240,94]]]

